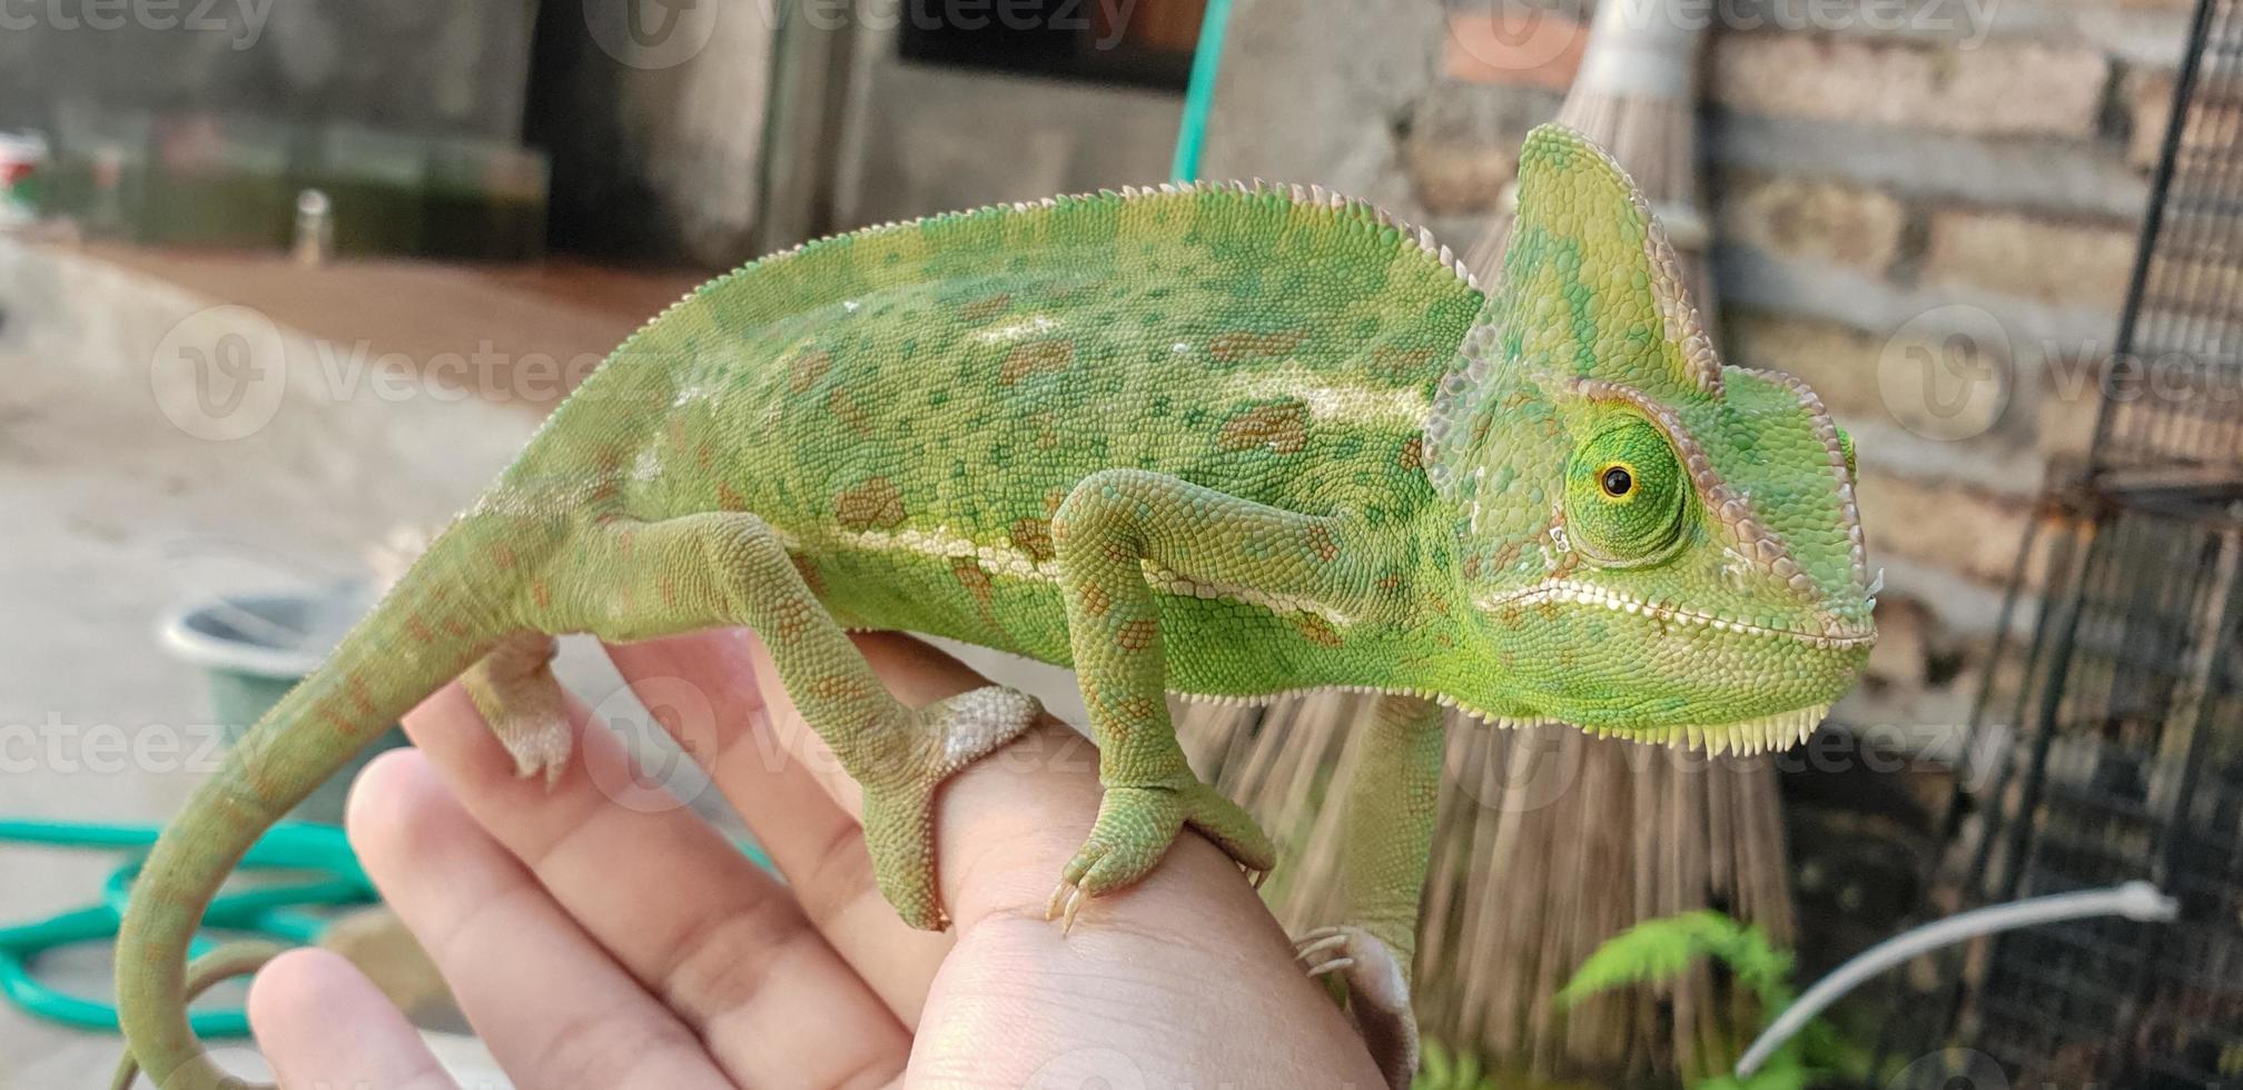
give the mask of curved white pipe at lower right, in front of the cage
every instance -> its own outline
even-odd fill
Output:
[[[1916,958],[1918,953],[1974,940],[1978,935],[1992,935],[1996,931],[2055,924],[2059,920],[2077,920],[2086,915],[2124,915],[2126,920],[2140,922],[2167,922],[2180,915],[2180,906],[2171,897],[2158,893],[2158,886],[2151,886],[2149,881],[2129,881],[2104,890],[2057,893],[2052,897],[1992,904],[1902,931],[1833,969],[1830,976],[1817,980],[1806,996],[1799,996],[1799,1003],[1785,1007],[1785,1012],[1761,1032],[1761,1038],[1745,1050],[1745,1059],[1736,1061],[1736,1077],[1745,1079],[1756,1072],[1761,1063],[1767,1063],[1767,1056],[1776,1047],[1790,1041],[1792,1034],[1808,1025],[1808,1018],[1821,1014],[1824,1007],[1837,1003],[1864,980]]]

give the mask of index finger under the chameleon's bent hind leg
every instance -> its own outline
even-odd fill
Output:
[[[825,942],[904,1025],[917,1025],[926,982],[949,953],[951,935],[913,931],[879,895],[857,816],[841,810],[819,774],[772,733],[756,686],[756,648],[747,632],[720,630],[615,644],[608,657],[641,693],[682,686],[702,695],[680,700],[693,711],[664,718],[664,727],[702,760]],[[899,682],[890,677],[888,684]],[[814,754],[832,760],[823,747]]]

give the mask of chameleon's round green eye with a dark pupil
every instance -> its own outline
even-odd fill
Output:
[[[1566,473],[1566,536],[1604,567],[1642,567],[1682,541],[1689,478],[1667,433],[1619,417],[1572,453]]]

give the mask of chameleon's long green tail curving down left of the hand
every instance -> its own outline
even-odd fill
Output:
[[[164,1090],[240,1088],[186,1023],[186,946],[242,855],[399,715],[514,632],[514,527],[464,518],[428,545],[310,677],[195,787],[148,855],[117,935],[117,1007],[132,1059]],[[260,964],[260,962],[258,962]],[[256,964],[236,964],[256,969]]]

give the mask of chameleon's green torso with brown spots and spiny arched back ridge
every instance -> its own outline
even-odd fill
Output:
[[[581,435],[563,422],[659,406],[666,428],[612,428],[633,442],[599,464],[525,455],[511,482],[615,478],[639,518],[756,511],[850,626],[1065,662],[1050,518],[1074,482],[1151,469],[1400,527],[1433,500],[1422,428],[1480,303],[1429,235],[1321,191],[938,215],[702,287],[556,413]],[[1314,639],[1270,606],[1182,594],[1164,623]]]

